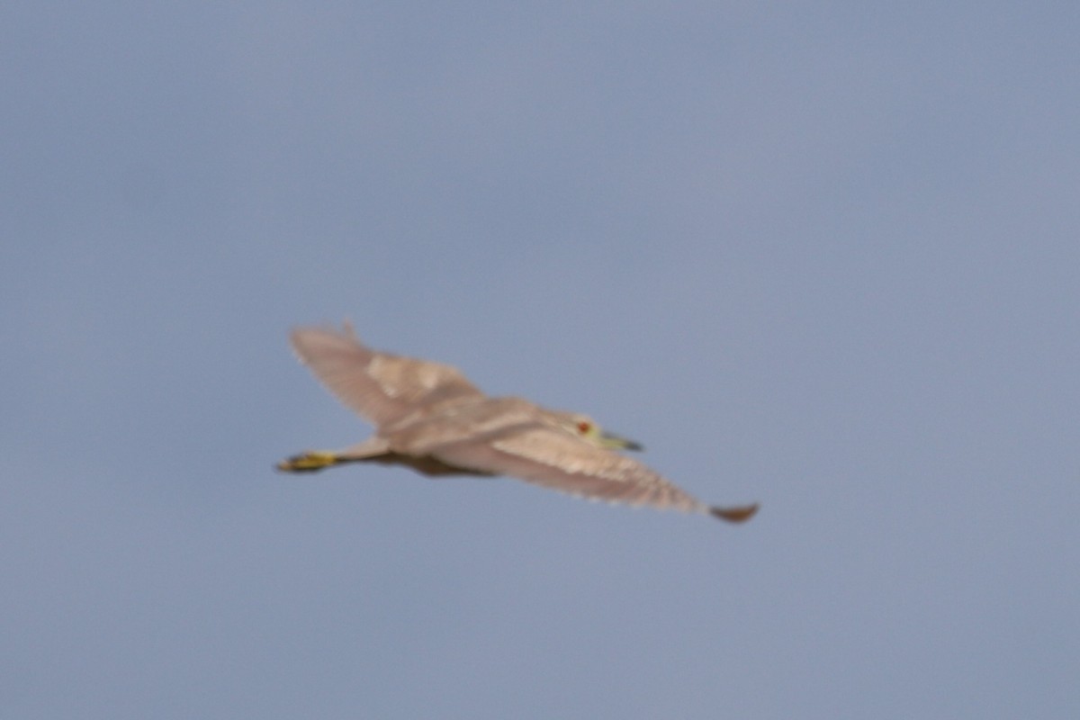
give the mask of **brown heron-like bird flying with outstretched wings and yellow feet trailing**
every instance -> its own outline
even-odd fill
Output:
[[[375,426],[341,450],[308,450],[278,463],[313,473],[346,463],[403,465],[421,475],[512,476],[589,500],[748,520],[758,504],[706,505],[644,463],[620,454],[642,446],[589,416],[521,397],[490,397],[457,368],[368,348],[352,326],[298,327],[300,362],[337,398]]]

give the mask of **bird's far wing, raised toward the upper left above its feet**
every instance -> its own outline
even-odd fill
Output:
[[[301,327],[289,336],[300,361],[347,407],[376,425],[443,400],[484,394],[449,365],[380,353],[352,328]]]

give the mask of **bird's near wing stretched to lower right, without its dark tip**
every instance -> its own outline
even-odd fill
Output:
[[[510,475],[591,500],[686,512],[710,507],[642,463],[542,423],[434,448],[450,465]]]

